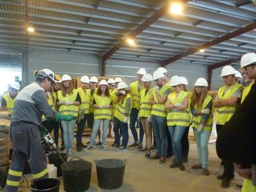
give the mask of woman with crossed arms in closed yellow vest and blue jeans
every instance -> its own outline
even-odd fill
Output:
[[[165,108],[168,111],[166,120],[172,138],[174,153],[173,163],[170,168],[185,170],[181,161],[181,138],[189,125],[188,93],[180,89],[180,78],[175,77],[171,81],[173,92],[168,95]]]

